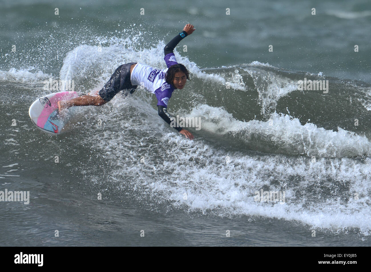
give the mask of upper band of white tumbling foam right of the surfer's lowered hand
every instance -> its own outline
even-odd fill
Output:
[[[273,113],[268,121],[239,121],[222,108],[198,105],[191,117],[202,116],[201,129],[222,135],[236,147],[290,156],[342,158],[371,155],[371,143],[338,127],[338,131],[318,128],[288,114]]]

